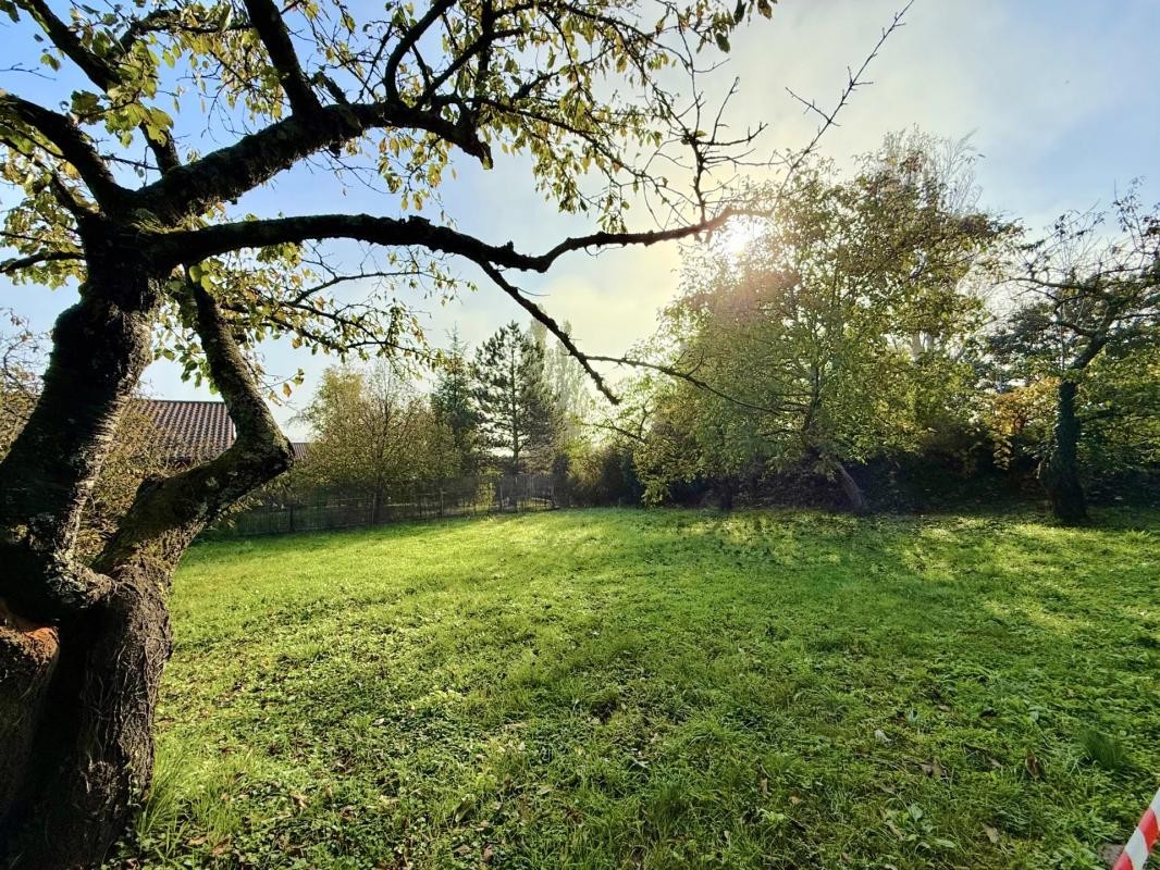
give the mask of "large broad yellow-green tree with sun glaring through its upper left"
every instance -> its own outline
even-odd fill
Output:
[[[957,349],[981,313],[972,275],[1005,227],[936,157],[912,136],[850,180],[805,167],[740,252],[695,252],[665,314],[667,369],[686,377],[654,403],[654,496],[666,477],[706,476],[728,501],[739,476],[807,463],[864,510],[847,465],[919,449],[956,405],[970,380]]]

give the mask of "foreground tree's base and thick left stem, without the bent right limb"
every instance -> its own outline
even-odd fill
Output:
[[[103,857],[148,780],[168,655],[165,583],[74,554],[88,493],[150,357],[158,300],[157,282],[123,251],[89,254],[89,284],[57,321],[36,408],[0,464],[0,864],[16,868]]]

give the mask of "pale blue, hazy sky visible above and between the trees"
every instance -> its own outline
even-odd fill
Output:
[[[812,133],[813,119],[803,115],[785,88],[831,104],[847,67],[861,64],[899,6],[897,0],[783,0],[773,21],[755,20],[737,34],[728,64],[706,84],[720,95],[739,77],[732,123],[737,128],[767,123],[767,148],[800,146]],[[14,46],[12,56],[38,53],[22,28],[5,27],[0,38],[6,49]],[[873,84],[854,95],[821,150],[847,162],[872,150],[885,133],[912,125],[945,137],[969,135],[983,155],[977,173],[984,203],[1032,226],[1066,209],[1107,203],[1117,187],[1136,176],[1146,177],[1145,198],[1157,201],[1158,43],[1158,0],[916,0],[906,26],[871,67]],[[36,97],[48,86],[27,75],[0,73],[0,87]],[[218,133],[216,144],[227,140]],[[215,145],[194,144],[202,150]],[[458,169],[458,180],[448,181],[443,198],[465,231],[537,251],[564,234],[589,229],[544,203],[519,160],[501,160],[490,172],[461,161]],[[319,209],[383,213],[385,204],[369,190],[343,191],[332,179],[299,168],[245,197],[239,209],[264,215]],[[340,247],[335,258],[354,253],[349,246]],[[675,246],[597,258],[573,254],[549,275],[522,285],[542,293],[558,319],[571,321],[581,346],[593,353],[616,353],[652,331],[657,310],[675,291],[679,268]],[[478,277],[467,267],[463,274]],[[505,296],[486,282],[480,285],[443,307],[419,300],[418,306],[430,312],[428,334],[437,339],[457,325],[466,340],[476,342],[513,318],[523,319]],[[68,290],[0,283],[0,307],[15,309],[43,329],[73,298]],[[311,392],[326,364],[325,357],[284,345],[264,351],[273,371],[306,369],[305,387],[296,399]],[[146,379],[146,391],[153,396],[208,396],[204,389],[182,383],[169,364],[154,363]],[[293,408],[277,413],[289,421]],[[304,434],[293,425],[290,429],[296,436]]]

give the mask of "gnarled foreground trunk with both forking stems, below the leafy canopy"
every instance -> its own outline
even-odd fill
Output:
[[[58,321],[37,408],[0,462],[0,868],[106,857],[152,775],[173,571],[208,522],[291,459],[229,322],[190,288],[238,437],[204,465],[143,484],[97,560],[77,563],[77,524],[148,358],[157,304],[157,278],[121,253],[117,278],[92,267]]]

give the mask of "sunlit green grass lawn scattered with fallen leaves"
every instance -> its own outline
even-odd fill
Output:
[[[1096,868],[1160,515],[583,510],[219,542],[115,865]]]

